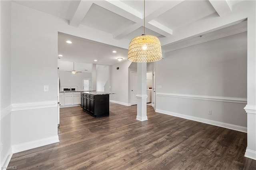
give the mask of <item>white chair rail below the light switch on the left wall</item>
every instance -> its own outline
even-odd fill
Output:
[[[12,104],[12,111],[23,111],[30,109],[42,109],[42,108],[50,108],[57,107],[57,101],[45,101],[45,102],[33,102],[33,103],[17,103]]]

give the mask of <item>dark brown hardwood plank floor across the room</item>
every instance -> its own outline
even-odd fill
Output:
[[[109,117],[60,109],[60,142],[13,154],[20,170],[256,170],[244,157],[246,133],[110,103]]]

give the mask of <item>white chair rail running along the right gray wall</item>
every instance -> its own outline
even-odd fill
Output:
[[[240,97],[187,95],[187,94],[174,94],[174,93],[156,93],[156,96],[208,100],[208,101],[221,101],[221,102],[229,102],[229,103],[244,103],[244,104],[247,103],[246,98],[240,98]]]

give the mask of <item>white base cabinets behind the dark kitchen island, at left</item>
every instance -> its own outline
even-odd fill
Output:
[[[80,92],[60,92],[60,107],[79,106],[80,102]]]

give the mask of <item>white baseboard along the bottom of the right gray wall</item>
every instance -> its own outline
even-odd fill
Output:
[[[200,118],[200,117],[183,115],[183,114],[180,114],[180,113],[174,113],[174,112],[164,111],[164,110],[160,110],[160,109],[156,109],[156,112],[163,113],[163,114],[166,114],[166,115],[175,116],[175,117],[180,117],[180,118],[184,118],[184,119],[188,119],[188,120],[192,120],[192,121],[197,121],[197,122],[201,122],[201,123],[206,123],[206,124],[209,124],[209,125],[224,127],[224,128],[228,128],[228,129],[232,129],[232,130],[237,130],[237,131],[240,131],[240,132],[247,132],[247,127],[232,125],[232,124],[229,124],[229,123],[212,121],[210,119],[204,119],[204,118]]]

